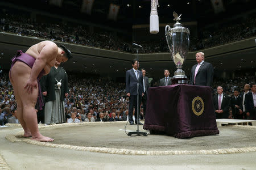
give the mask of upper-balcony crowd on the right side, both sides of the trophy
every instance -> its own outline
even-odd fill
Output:
[[[226,23],[211,31],[204,28],[200,29],[203,32],[200,39],[190,37],[190,51],[210,48],[256,36],[256,18],[250,17],[240,20],[238,23]],[[141,50],[142,53],[169,52],[165,37],[155,41],[141,41],[138,43],[145,47]]]

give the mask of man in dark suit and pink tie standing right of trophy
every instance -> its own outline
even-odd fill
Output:
[[[196,53],[197,64],[191,69],[190,84],[198,86],[212,86],[213,67],[204,61],[204,53]]]

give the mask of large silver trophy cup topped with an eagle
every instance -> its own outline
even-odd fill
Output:
[[[174,27],[171,28],[170,25],[166,25],[166,41],[170,49],[171,58],[177,67],[171,80],[172,84],[187,84],[188,78],[182,70],[182,65],[188,53],[189,30],[179,23],[181,15],[178,16],[176,12],[173,14],[174,20],[176,20]]]

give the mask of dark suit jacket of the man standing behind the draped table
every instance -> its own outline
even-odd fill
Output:
[[[194,76],[196,71],[196,65],[193,65],[191,69],[190,84],[194,83]],[[196,84],[198,86],[212,86],[213,81],[213,67],[209,62],[203,62],[199,67],[196,74]]]

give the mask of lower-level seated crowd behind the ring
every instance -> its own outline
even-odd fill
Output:
[[[157,81],[156,81],[157,82]],[[214,79],[213,90],[221,86],[230,99],[234,91],[243,92],[245,84],[255,84],[255,75],[245,74],[228,79]],[[69,95],[65,97],[67,122],[127,121],[129,97],[126,96],[125,83],[117,83],[105,78],[81,78],[69,74]],[[229,118],[232,114],[232,102],[229,102]],[[0,125],[18,123],[16,101],[13,88],[4,73],[0,77]],[[243,117],[246,119],[246,117]],[[143,119],[143,105],[141,109]]]

